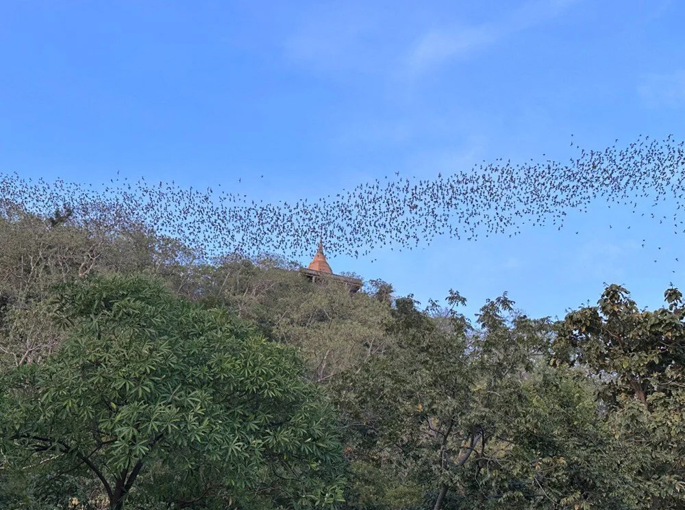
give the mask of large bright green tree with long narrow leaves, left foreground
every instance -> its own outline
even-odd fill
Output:
[[[145,278],[78,281],[57,305],[67,340],[2,380],[3,473],[80,477],[112,510],[340,499],[334,416],[292,348]]]

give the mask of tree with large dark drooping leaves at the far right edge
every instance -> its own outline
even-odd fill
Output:
[[[641,508],[685,508],[685,303],[665,292],[667,308],[638,309],[620,285],[597,307],[568,314],[554,344],[557,364],[585,370],[617,438]]]

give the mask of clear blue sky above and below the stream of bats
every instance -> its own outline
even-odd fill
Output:
[[[660,0],[4,0],[0,172],[292,201],[396,171],[567,160],[571,135],[588,149],[682,140],[683,19],[685,3]],[[603,282],[654,307],[685,288],[684,235],[639,214],[598,202],[562,231],[329,262],[423,303],[454,288],[469,313],[508,291],[562,316]]]

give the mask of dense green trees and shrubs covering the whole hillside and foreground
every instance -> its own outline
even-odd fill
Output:
[[[383,281],[0,216],[0,509],[685,509],[685,302],[471,323]]]

